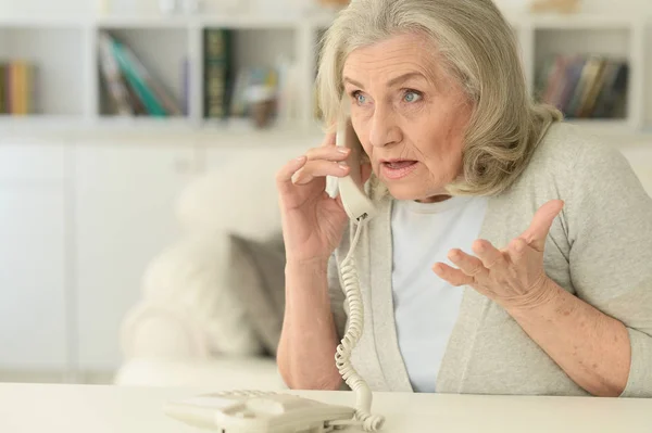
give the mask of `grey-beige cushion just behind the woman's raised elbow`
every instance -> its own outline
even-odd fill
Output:
[[[228,281],[263,347],[276,356],[285,311],[285,249],[277,234],[255,241],[231,233]]]

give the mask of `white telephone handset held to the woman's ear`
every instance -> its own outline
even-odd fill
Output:
[[[338,124],[336,145],[351,149],[347,158],[351,171],[349,176],[338,179],[338,190],[344,211],[351,219],[371,218],[374,216],[374,204],[364,192],[360,173],[363,150],[349,117]]]

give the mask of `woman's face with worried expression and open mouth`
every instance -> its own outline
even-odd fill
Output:
[[[472,107],[431,42],[401,35],[353,51],[343,68],[351,120],[398,200],[436,201],[461,175]]]

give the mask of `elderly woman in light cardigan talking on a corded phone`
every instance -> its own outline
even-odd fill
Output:
[[[377,215],[353,251],[375,391],[652,396],[652,200],[624,157],[530,99],[490,0],[353,0],[318,71],[368,165],[328,135],[277,175],[287,249],[278,352],[337,390],[341,262],[356,221],[325,177],[360,169]]]

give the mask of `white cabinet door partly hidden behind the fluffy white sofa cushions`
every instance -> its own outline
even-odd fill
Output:
[[[178,239],[174,206],[197,167],[191,144],[79,143],[76,150],[79,368],[120,366],[120,327],[148,263]]]

